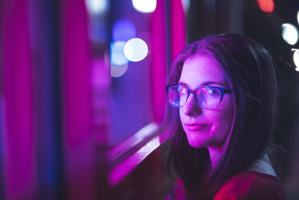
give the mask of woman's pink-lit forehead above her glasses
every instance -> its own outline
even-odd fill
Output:
[[[220,64],[210,56],[199,56],[186,60],[183,65],[179,82],[196,88],[206,83],[219,83],[228,86]]]

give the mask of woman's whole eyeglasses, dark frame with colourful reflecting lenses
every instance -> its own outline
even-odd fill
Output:
[[[182,85],[168,85],[166,91],[171,106],[183,107],[192,93],[199,107],[210,109],[220,105],[224,94],[231,93],[231,90],[216,86],[202,86],[192,90]]]

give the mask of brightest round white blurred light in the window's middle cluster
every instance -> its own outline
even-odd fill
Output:
[[[130,61],[141,61],[147,56],[147,53],[147,44],[140,38],[133,38],[124,46],[124,54]]]

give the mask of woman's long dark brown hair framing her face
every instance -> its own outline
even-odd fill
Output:
[[[277,83],[269,52],[239,34],[202,38],[184,48],[174,61],[168,84],[177,84],[184,62],[207,55],[219,63],[233,88],[231,133],[217,166],[211,168],[207,148],[193,148],[187,141],[179,109],[169,106],[171,154],[168,164],[183,180],[186,199],[213,199],[219,188],[264,156],[272,143],[277,111]]]

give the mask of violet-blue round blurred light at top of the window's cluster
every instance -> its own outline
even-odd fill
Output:
[[[135,25],[126,19],[116,21],[112,28],[112,39],[128,41],[136,37]]]

